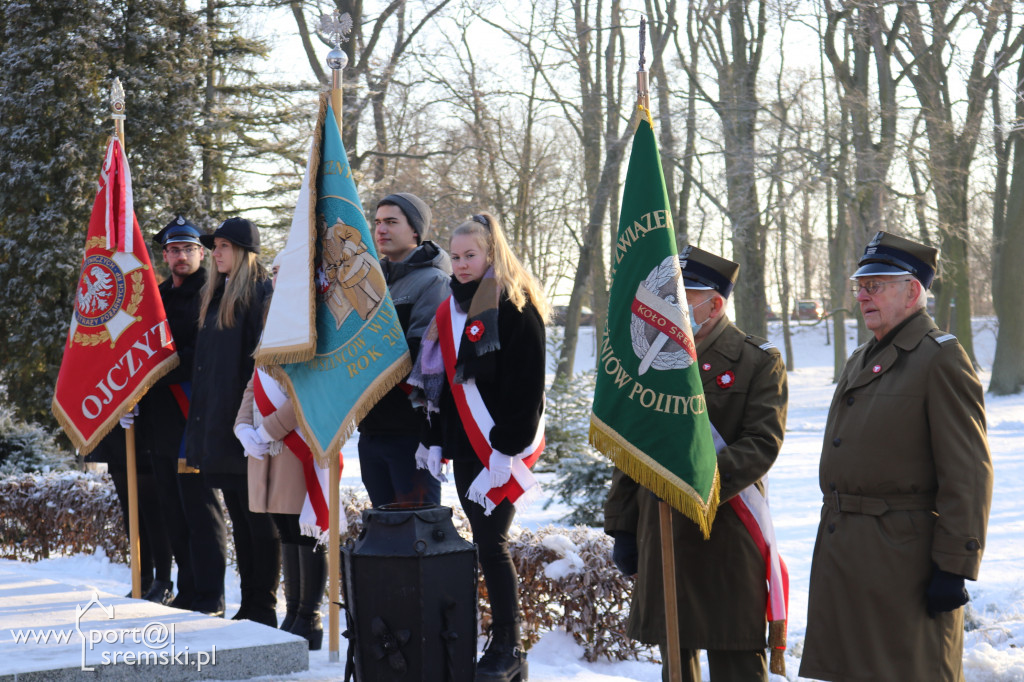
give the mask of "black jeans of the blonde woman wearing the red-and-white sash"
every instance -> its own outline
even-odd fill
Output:
[[[515,507],[508,500],[502,500],[489,516],[485,515],[483,507],[466,497],[473,479],[483,470],[483,464],[473,458],[456,460],[453,466],[459,502],[473,529],[480,570],[490,597],[492,622],[511,626],[519,620],[519,576],[509,552],[509,528],[515,517]]]

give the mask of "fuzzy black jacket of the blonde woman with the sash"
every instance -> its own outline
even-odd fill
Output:
[[[447,305],[447,301],[442,303]],[[495,420],[488,434],[499,453],[517,455],[529,445],[544,415],[545,329],[541,315],[527,301],[522,310],[503,294],[498,305],[498,337],[495,372],[477,378],[476,385],[487,412]],[[463,344],[468,343],[464,338]],[[431,418],[423,441],[441,445],[449,460],[476,459],[466,436],[447,381],[440,398],[440,414]]]

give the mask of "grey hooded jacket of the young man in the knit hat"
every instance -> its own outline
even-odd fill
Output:
[[[451,293],[452,261],[436,244],[424,242],[406,260],[393,263],[381,259],[381,271],[409,343],[409,356],[415,364],[420,339],[427,333],[437,306]],[[384,394],[359,422],[359,433],[419,435],[426,412],[414,408],[408,390],[402,389],[399,384]]]

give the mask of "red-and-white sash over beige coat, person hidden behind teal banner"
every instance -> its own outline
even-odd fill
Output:
[[[278,408],[288,400],[288,394],[282,390],[281,385],[263,370],[256,369],[253,376],[253,394],[256,409],[263,419],[266,419]],[[302,503],[302,512],[299,514],[299,529],[304,536],[316,538],[319,542],[328,541],[328,526],[330,509],[328,500],[330,499],[330,469],[316,464],[312,451],[306,444],[305,438],[298,429],[293,429],[283,438],[283,441],[292,454],[302,463],[302,475],[306,481],[306,499]],[[341,460],[341,453],[338,453]],[[340,462],[341,465],[344,462]],[[348,527],[345,514],[338,514],[339,532],[344,532]]]

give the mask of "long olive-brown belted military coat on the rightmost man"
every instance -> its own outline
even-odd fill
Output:
[[[963,680],[964,609],[926,611],[932,564],[978,576],[992,494],[981,383],[924,311],[850,357],[819,484],[800,675]]]

